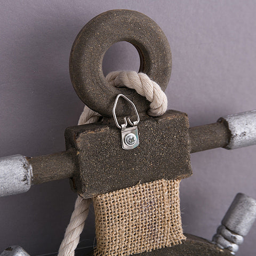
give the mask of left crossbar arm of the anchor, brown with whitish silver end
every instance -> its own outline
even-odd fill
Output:
[[[31,185],[71,178],[76,172],[75,151],[0,158],[0,197],[25,193]]]

